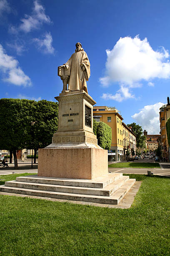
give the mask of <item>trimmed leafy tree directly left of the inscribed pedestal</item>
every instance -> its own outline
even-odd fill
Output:
[[[36,163],[37,149],[51,144],[53,133],[57,131],[58,103],[47,100],[34,102],[30,118],[26,148],[34,149],[34,163]]]

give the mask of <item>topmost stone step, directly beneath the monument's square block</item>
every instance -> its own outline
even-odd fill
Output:
[[[41,184],[52,184],[61,186],[72,186],[72,187],[94,187],[104,188],[111,184],[113,181],[120,179],[122,173],[109,173],[105,176],[96,179],[63,179],[63,178],[51,178],[51,177],[38,177],[37,175],[29,175],[23,177],[17,177],[18,182],[30,182],[30,183],[41,183]]]

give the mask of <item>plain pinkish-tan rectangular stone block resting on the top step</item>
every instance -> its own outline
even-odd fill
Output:
[[[95,179],[108,173],[107,150],[100,148],[40,148],[38,176]]]

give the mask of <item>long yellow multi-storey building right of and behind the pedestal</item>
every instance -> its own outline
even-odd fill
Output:
[[[106,106],[94,106],[93,118],[97,122],[107,123],[112,128],[112,143],[110,149],[115,153],[115,161],[122,161],[125,159],[126,145],[130,149],[136,149],[133,146],[136,139],[134,133],[128,128],[125,123],[122,123],[122,116],[117,109],[108,108]],[[132,147],[131,147],[132,146]]]

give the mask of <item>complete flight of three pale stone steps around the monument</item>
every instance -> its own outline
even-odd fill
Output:
[[[0,191],[65,200],[119,204],[135,179],[122,173],[108,173],[97,179],[63,179],[30,175],[5,182]]]

